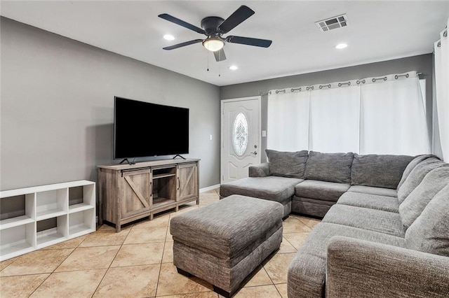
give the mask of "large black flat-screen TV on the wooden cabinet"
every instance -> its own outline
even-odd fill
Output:
[[[189,109],[114,97],[114,159],[189,153]]]

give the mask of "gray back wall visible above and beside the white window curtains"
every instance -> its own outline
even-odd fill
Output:
[[[407,71],[417,71],[422,73],[420,78],[426,79],[426,99],[427,99],[427,126],[429,135],[432,129],[432,81],[433,55],[419,55],[390,61],[362,64],[358,66],[344,67],[342,69],[331,69],[328,71],[318,71],[314,73],[304,73],[297,76],[286,76],[270,80],[260,80],[257,82],[228,85],[220,88],[221,99],[233,99],[240,97],[250,97],[274,89],[284,89],[304,85],[315,85],[320,83],[344,82],[357,78],[367,78],[371,76],[383,76],[390,73],[405,73]],[[262,96],[262,130],[267,130],[267,95]],[[262,138],[262,152],[267,148],[267,139]],[[438,150],[436,150],[438,153]],[[262,155],[262,162],[266,161],[266,155]]]

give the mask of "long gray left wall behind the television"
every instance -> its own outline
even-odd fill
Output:
[[[4,17],[0,25],[1,190],[96,181],[98,164],[118,163],[115,95],[189,108],[185,156],[201,159],[201,188],[220,183],[219,87]],[[146,139],[151,130],[134,141]]]

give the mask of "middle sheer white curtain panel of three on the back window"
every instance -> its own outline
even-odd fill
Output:
[[[309,150],[358,152],[359,87],[354,84],[338,87],[338,83],[313,87],[310,94]]]

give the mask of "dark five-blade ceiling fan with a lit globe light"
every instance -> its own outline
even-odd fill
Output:
[[[163,18],[164,20],[168,20],[169,22],[173,22],[182,27],[207,36],[207,38],[205,39],[194,39],[193,41],[186,41],[185,43],[170,45],[163,48],[163,50],[174,50],[186,45],[193,45],[194,43],[203,43],[203,47],[213,52],[215,55],[215,60],[217,60],[217,62],[220,62],[226,59],[225,51],[223,50],[225,43],[240,43],[242,45],[254,45],[256,47],[268,48],[269,45],[272,44],[272,41],[269,41],[267,39],[232,35],[227,37],[222,36],[223,34],[227,34],[229,31],[237,27],[239,24],[241,24],[241,22],[248,19],[248,17],[250,17],[251,15],[254,15],[254,13],[254,10],[252,10],[248,6],[242,5],[237,8],[237,10],[232,13],[232,15],[229,15],[226,20],[222,19],[222,17],[204,17],[203,20],[201,20],[201,28],[180,20],[177,17],[168,15],[167,13],[162,13],[161,15],[159,15],[159,17]]]

